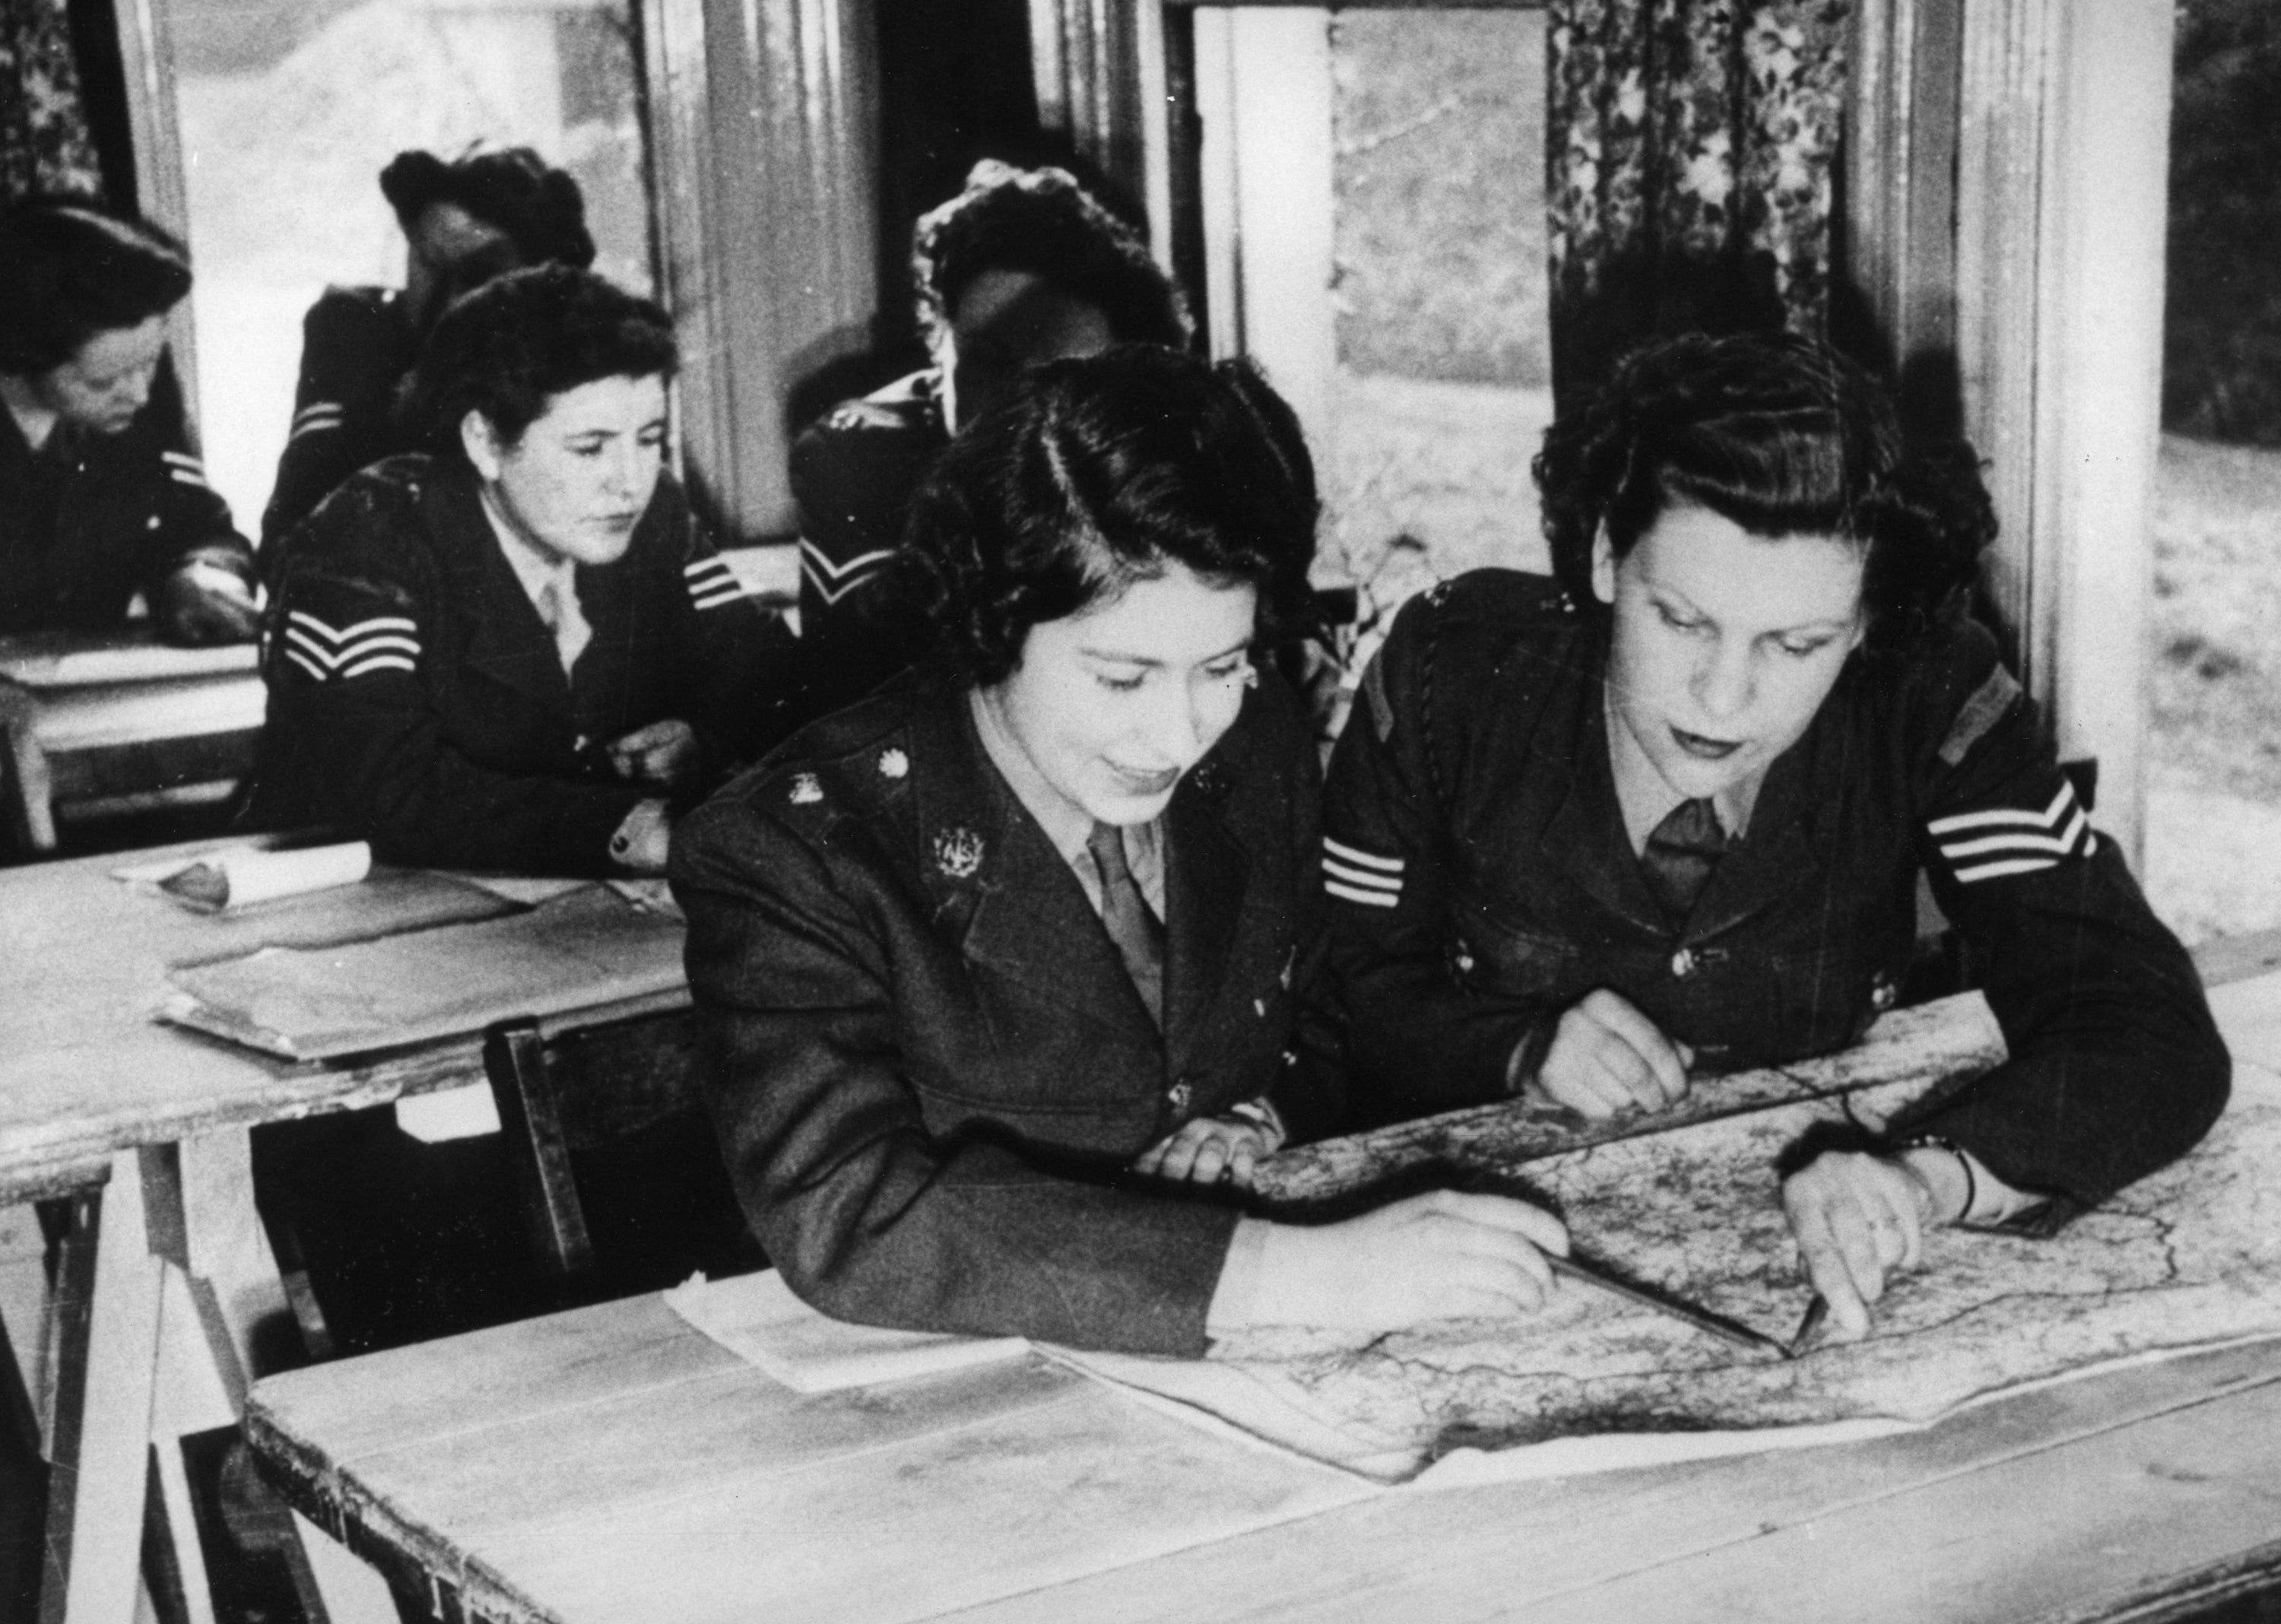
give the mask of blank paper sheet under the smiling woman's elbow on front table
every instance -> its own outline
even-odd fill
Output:
[[[1029,1353],[1022,1337],[937,1337],[849,1325],[801,1302],[773,1268],[691,1280],[666,1305],[739,1359],[798,1394],[908,1382]]]

